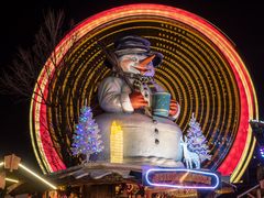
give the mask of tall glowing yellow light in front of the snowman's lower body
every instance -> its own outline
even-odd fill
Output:
[[[123,163],[123,131],[116,121],[111,125],[110,151],[111,163]]]

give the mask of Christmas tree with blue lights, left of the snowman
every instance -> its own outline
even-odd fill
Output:
[[[89,162],[91,154],[103,150],[100,130],[92,119],[91,109],[87,106],[80,110],[79,123],[76,125],[73,139],[73,155],[85,154],[86,162]]]

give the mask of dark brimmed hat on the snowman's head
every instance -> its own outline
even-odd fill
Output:
[[[114,42],[114,54],[118,57],[128,54],[144,54],[146,56],[155,55],[152,61],[154,67],[160,66],[164,57],[163,54],[151,51],[150,41],[138,35],[128,35],[117,40]],[[111,68],[111,65],[106,65]]]

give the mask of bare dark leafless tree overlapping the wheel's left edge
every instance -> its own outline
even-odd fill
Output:
[[[56,50],[57,44],[66,35],[67,30],[72,30],[73,23],[65,22],[65,13],[59,10],[57,12],[53,10],[46,11],[44,14],[44,22],[41,25],[38,32],[35,34],[34,43],[29,48],[19,47],[18,52],[12,59],[8,69],[2,72],[0,78],[0,92],[3,95],[11,95],[22,100],[35,100],[35,95],[41,97],[42,103],[47,108],[47,111],[53,111],[54,109],[59,109],[64,111],[68,106],[75,106],[75,103],[68,103],[65,100],[64,90],[61,88],[57,90],[59,94],[58,100],[54,100],[52,97],[54,80],[63,84],[63,79],[66,77],[63,67],[67,67],[69,64],[67,57],[58,62],[57,54],[63,52],[62,50]],[[68,26],[68,29],[67,29]],[[76,43],[76,34],[72,34],[72,37],[67,40],[67,45],[73,46]],[[55,52],[56,50],[56,52]],[[62,52],[59,52],[62,51]],[[68,52],[69,52],[68,51]],[[47,64],[48,62],[48,64]],[[51,72],[51,67],[54,68]],[[46,87],[48,95],[45,96],[41,88],[41,82],[37,81],[41,70],[46,73]],[[40,91],[35,91],[35,87]],[[62,86],[63,87],[63,86]],[[73,98],[73,96],[69,96]],[[40,102],[36,101],[35,102]],[[62,114],[64,116],[64,114]],[[53,118],[50,118],[51,120]],[[73,118],[73,120],[78,120],[78,118]],[[67,166],[72,165],[70,150],[67,146],[68,142],[72,140],[73,131],[66,123],[66,118],[62,118],[59,122],[54,125],[51,121],[50,125],[44,124],[44,129],[56,139],[53,139],[53,145],[55,150],[62,154],[64,162]],[[61,152],[64,151],[64,152]]]

